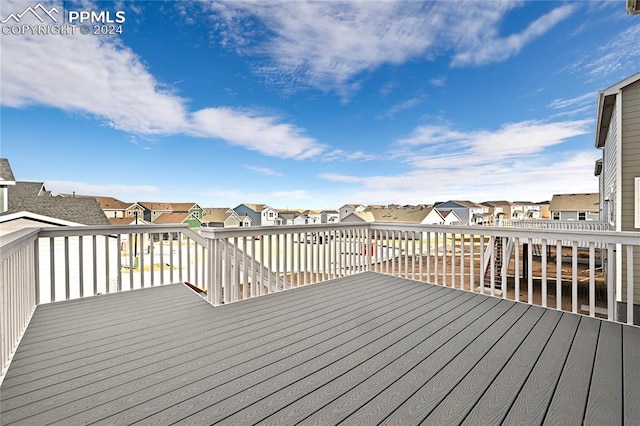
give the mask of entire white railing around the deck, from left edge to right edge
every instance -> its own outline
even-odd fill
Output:
[[[37,304],[176,282],[220,305],[375,271],[629,324],[640,302],[632,232],[132,225],[27,229],[0,243],[3,372]]]

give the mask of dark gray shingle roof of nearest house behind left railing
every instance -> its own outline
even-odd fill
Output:
[[[16,182],[10,186],[9,209],[3,214],[28,211],[83,225],[109,225],[95,198],[38,195],[42,182]]]

